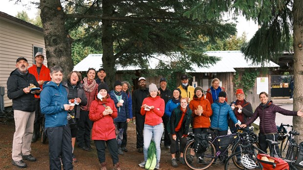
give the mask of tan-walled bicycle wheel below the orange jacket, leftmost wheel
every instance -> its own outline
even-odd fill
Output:
[[[216,158],[216,148],[211,141],[208,141],[208,148],[205,152],[194,151],[195,140],[189,142],[184,149],[184,160],[186,165],[192,170],[205,170],[209,168]]]

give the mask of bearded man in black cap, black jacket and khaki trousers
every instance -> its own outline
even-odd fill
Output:
[[[39,87],[34,75],[27,70],[28,63],[24,57],[16,61],[16,69],[10,73],[7,79],[7,97],[13,100],[15,133],[12,148],[12,163],[18,168],[27,167],[23,160],[36,161],[30,154],[31,140],[35,120],[35,97],[40,90],[31,90],[33,84]]]

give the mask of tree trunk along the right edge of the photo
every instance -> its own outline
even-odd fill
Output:
[[[303,5],[301,0],[293,3],[293,31],[294,31],[294,110],[303,108]],[[303,141],[303,118],[294,116],[293,126],[300,132],[297,141]]]

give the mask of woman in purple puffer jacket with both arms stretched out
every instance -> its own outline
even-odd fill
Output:
[[[272,101],[268,101],[268,94],[266,92],[261,92],[259,94],[261,104],[256,108],[253,116],[240,127],[246,127],[252,124],[258,117],[260,117],[260,133],[259,133],[259,145],[260,149],[267,152],[267,142],[266,139],[277,141],[278,139],[278,129],[276,125],[276,112],[279,112],[287,116],[301,116],[303,117],[303,112],[301,109],[299,111],[285,110],[277,105],[274,105]],[[280,153],[279,146],[275,146],[272,149],[272,153]]]

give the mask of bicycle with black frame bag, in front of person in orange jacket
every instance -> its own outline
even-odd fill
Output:
[[[187,166],[192,170],[205,170],[209,168],[215,160],[223,162],[228,157],[228,150],[238,140],[237,134],[219,136],[218,131],[220,128],[210,127],[210,130],[212,132],[208,132],[208,147],[204,152],[194,151],[195,143],[198,142],[195,140],[195,136],[201,134],[190,133],[188,136],[189,140],[184,149],[184,160]],[[224,145],[224,143],[227,144]]]

